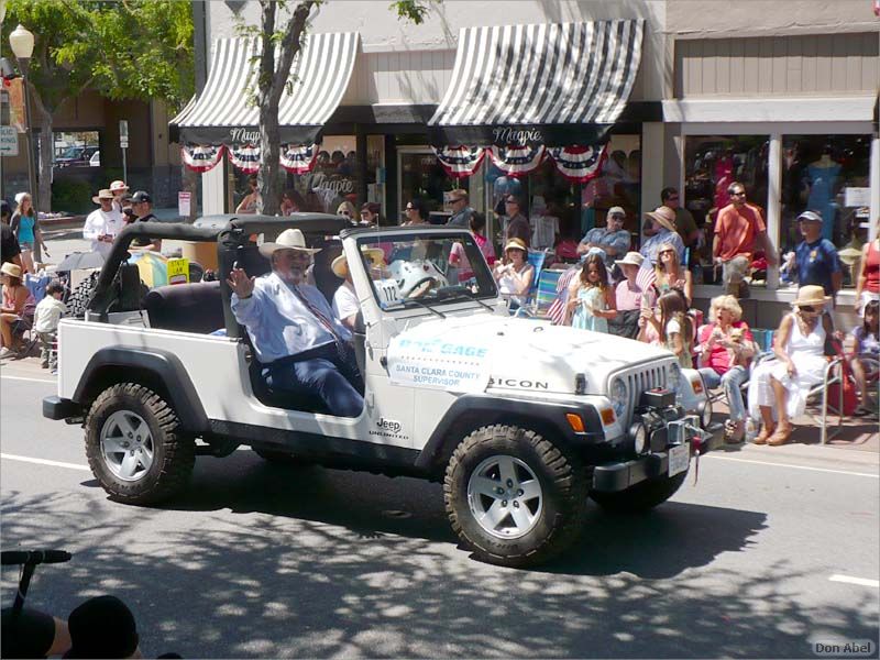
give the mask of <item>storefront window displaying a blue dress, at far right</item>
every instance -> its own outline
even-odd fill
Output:
[[[838,249],[844,286],[853,286],[853,257],[867,240],[870,218],[868,135],[785,135],[782,140],[782,237],[784,252],[803,238],[796,218],[822,216],[822,235]]]

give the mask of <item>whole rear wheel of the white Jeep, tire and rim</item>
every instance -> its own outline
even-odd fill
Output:
[[[196,443],[160,395],[136,383],[119,383],[105,389],[89,409],[86,455],[111,499],[150,505],[186,486]]]

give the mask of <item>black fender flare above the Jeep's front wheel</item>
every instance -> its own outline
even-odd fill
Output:
[[[565,415],[569,413],[581,416],[585,432],[578,433],[572,430],[565,419]],[[605,441],[600,413],[590,404],[557,404],[466,394],[459,397],[446,411],[416,459],[417,468],[430,470],[443,455],[443,448],[448,443],[458,443],[461,440],[461,438],[453,437],[451,432],[455,429],[457,422],[465,417],[477,417],[484,420],[477,424],[477,427],[494,424],[516,426],[528,421],[538,422],[539,429],[536,430],[552,432],[557,437],[563,438],[571,447],[586,447]]]

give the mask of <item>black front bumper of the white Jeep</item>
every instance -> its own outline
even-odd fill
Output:
[[[617,493],[647,480],[667,475],[674,476],[674,474],[670,474],[669,468],[672,454],[676,453],[676,448],[688,446],[690,462],[691,455],[712,446],[713,435],[713,431],[700,427],[700,419],[695,415],[679,415],[675,419],[667,419],[650,429],[650,442],[645,454],[635,459],[595,465],[592,490]],[[662,447],[658,447],[658,444],[662,444]],[[678,468],[678,465],[675,466]],[[689,469],[690,464],[681,472],[686,473]]]

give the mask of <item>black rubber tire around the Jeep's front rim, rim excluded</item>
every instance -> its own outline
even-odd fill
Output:
[[[472,475],[495,457],[520,461],[540,485],[540,510],[518,538],[487,531],[469,499]],[[578,538],[584,526],[587,488],[586,470],[566,448],[524,428],[492,426],[473,431],[455,448],[447,466],[443,499],[452,529],[479,559],[525,568],[547,561]]]

